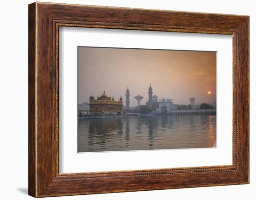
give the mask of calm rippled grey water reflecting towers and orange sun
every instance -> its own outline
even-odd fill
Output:
[[[78,152],[211,147],[216,147],[216,115],[78,121]]]

